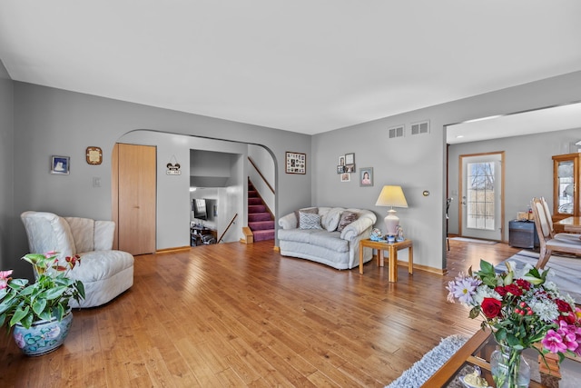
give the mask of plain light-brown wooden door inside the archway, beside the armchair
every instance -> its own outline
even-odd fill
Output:
[[[116,246],[130,254],[155,252],[156,151],[134,144],[115,144],[113,149]]]

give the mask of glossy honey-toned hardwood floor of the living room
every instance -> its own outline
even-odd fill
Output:
[[[271,242],[137,256],[133,287],[75,310],[54,353],[25,357],[0,336],[0,386],[383,387],[441,338],[478,330],[447,282],[518,251],[450,241],[447,275],[399,266],[397,284],[375,261],[337,271]]]

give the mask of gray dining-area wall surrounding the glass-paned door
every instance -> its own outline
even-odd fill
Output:
[[[581,140],[581,128],[566,131],[505,137],[465,144],[451,144],[448,148],[448,191],[454,197],[450,205],[448,232],[458,234],[459,156],[505,152],[505,229],[503,240],[508,240],[508,222],[526,212],[533,197],[544,196],[553,206],[553,160],[556,154],[571,153],[570,144]]]

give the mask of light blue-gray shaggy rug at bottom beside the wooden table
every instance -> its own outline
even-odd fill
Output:
[[[386,388],[420,387],[432,374],[438,372],[438,369],[467,341],[468,338],[461,335],[450,335],[444,338],[438,346],[424,354],[421,360],[411,365],[411,368],[402,373],[393,383],[387,385]]]

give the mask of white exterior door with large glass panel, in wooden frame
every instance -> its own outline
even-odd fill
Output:
[[[460,155],[460,234],[502,240],[503,153]]]

